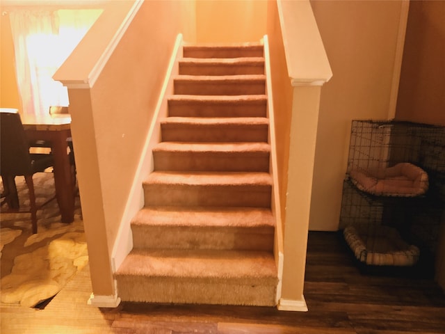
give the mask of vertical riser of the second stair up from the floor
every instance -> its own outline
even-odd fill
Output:
[[[273,250],[273,228],[132,225],[134,248]]]

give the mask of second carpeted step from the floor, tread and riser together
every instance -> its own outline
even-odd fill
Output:
[[[144,207],[131,221],[134,248],[273,250],[270,209]]]

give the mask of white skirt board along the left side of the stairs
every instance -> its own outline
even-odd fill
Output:
[[[125,257],[133,249],[133,234],[131,232],[131,219],[136,213],[144,207],[144,191],[143,180],[154,170],[153,148],[161,142],[161,125],[162,118],[168,116],[167,96],[173,93],[173,77],[179,73],[179,59],[183,57],[184,40],[182,34],[177,35],[175,46],[170,57],[165,79],[153,114],[152,123],[147,132],[145,144],[140,155],[138,168],[136,169],[131,191],[124,209],[124,214],[120,221],[118,236],[116,237],[113,251],[111,253],[111,266],[115,273]]]

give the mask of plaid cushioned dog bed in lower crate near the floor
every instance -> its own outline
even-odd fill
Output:
[[[343,230],[348,246],[360,262],[375,266],[410,267],[419,260],[420,251],[407,244],[397,230],[388,226],[369,225]]]

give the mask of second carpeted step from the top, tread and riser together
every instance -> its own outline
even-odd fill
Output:
[[[179,61],[179,74],[264,74],[264,58],[184,58]]]

